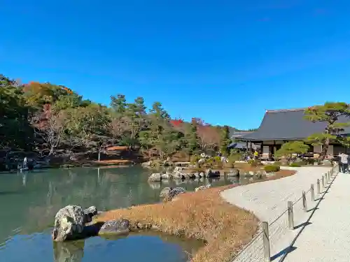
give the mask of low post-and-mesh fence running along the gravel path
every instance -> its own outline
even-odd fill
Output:
[[[238,259],[239,261],[244,262],[261,261],[262,259],[266,262],[271,261],[270,240],[284,235],[282,232],[283,229],[295,229],[293,209],[296,210],[296,205],[299,204],[300,201],[302,203],[302,207],[301,209],[298,208],[297,210],[303,210],[304,212],[302,212],[302,214],[309,211],[307,207],[307,198],[310,197],[311,205],[316,207],[316,201],[321,201],[323,197],[320,196],[325,194],[325,191],[327,191],[328,187],[330,187],[330,183],[332,180],[334,180],[336,168],[337,166],[333,166],[330,171],[322,175],[321,180],[317,180],[316,192],[314,191],[314,184],[311,184],[311,187],[307,191],[302,191],[302,196],[300,196],[300,198],[297,198],[297,200],[294,202],[288,201],[288,208],[283,210],[283,212],[281,212],[281,214],[279,214],[271,223],[262,221],[259,232],[255,234],[253,239],[248,242],[248,244],[244,245],[244,247],[235,255],[235,259],[233,261],[237,261]],[[315,198],[315,195],[317,198]],[[314,206],[312,208],[314,208]],[[288,219],[281,219],[285,214],[287,214]],[[300,213],[298,213],[298,215],[300,215]],[[244,259],[241,258],[242,255],[245,255]]]

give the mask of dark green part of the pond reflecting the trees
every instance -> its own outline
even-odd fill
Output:
[[[235,181],[163,180],[148,183],[150,170],[129,168],[50,169],[0,175],[0,243],[8,237],[41,232],[53,224],[57,211],[65,205],[95,205],[99,210],[157,203],[164,187],[184,187],[194,191],[202,184],[214,187]],[[11,194],[8,194],[11,192]],[[13,231],[20,228],[18,231]]]

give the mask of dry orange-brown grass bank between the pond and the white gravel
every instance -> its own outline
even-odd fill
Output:
[[[267,180],[293,175],[281,170]],[[172,202],[111,210],[96,221],[126,218],[132,229],[154,228],[164,233],[207,241],[193,262],[228,262],[258,230],[258,219],[247,210],[223,201],[220,192],[235,186],[181,194]]]

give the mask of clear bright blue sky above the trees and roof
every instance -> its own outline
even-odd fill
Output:
[[[255,128],[266,109],[349,102],[349,13],[346,0],[2,0],[0,73]]]

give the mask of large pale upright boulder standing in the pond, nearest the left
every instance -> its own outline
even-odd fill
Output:
[[[73,240],[81,237],[85,224],[83,208],[78,205],[67,205],[58,210],[52,239],[55,241]]]

